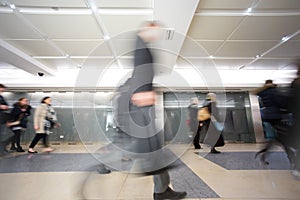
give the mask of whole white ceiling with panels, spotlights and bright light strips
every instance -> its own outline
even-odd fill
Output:
[[[132,69],[134,33],[145,20],[174,30],[157,44],[160,85],[251,88],[294,78],[299,0],[0,0],[1,83],[73,87],[92,67],[86,86],[113,87]]]

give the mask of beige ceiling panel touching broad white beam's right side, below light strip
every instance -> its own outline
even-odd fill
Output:
[[[188,35],[195,40],[225,40],[243,17],[195,16]]]

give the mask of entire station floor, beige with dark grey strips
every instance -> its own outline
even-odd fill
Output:
[[[95,170],[98,161],[84,146],[55,148],[50,154],[2,157],[0,199],[152,199],[151,176],[120,171],[101,175]],[[290,174],[285,153],[281,149],[272,152],[265,166],[254,159],[260,148],[258,144],[226,144],[219,148],[221,154],[209,154],[191,147],[177,161],[179,167],[170,170],[172,187],[187,191],[188,199],[299,199],[300,181]]]

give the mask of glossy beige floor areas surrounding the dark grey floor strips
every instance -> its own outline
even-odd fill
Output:
[[[82,145],[57,145],[53,146],[56,150],[51,154],[78,154],[85,153],[87,150]],[[25,147],[26,148],[26,147]],[[177,145],[174,150],[183,148]],[[215,155],[214,159],[221,162],[231,162],[228,155],[243,156],[249,154],[228,154],[231,152],[256,152],[261,148],[259,144],[226,144],[219,148],[221,154]],[[93,149],[90,146],[88,149]],[[95,146],[96,149],[96,146]],[[41,150],[38,149],[37,150]],[[230,170],[222,167],[221,164],[212,162],[206,158],[205,150],[195,153],[193,148],[189,148],[181,157],[183,163],[191,170],[194,176],[201,179],[216,196],[220,198],[190,198],[190,199],[222,199],[222,200],[298,200],[300,199],[300,181],[295,180],[289,169],[239,169]],[[275,149],[275,154],[280,153],[281,149]],[[44,161],[51,159],[51,154],[42,154]],[[202,155],[202,156],[201,156]],[[204,156],[203,156],[204,155]],[[226,158],[222,160],[220,157]],[[226,156],[225,156],[226,155]],[[276,154],[277,155],[277,154]],[[31,155],[27,153],[10,153],[0,160],[0,167],[4,166],[10,157],[12,168],[19,166],[18,159],[23,156],[28,159],[27,171],[19,173],[0,173],[0,199],[1,200],[79,200],[79,199],[119,199],[119,200],[148,200],[152,199],[153,182],[151,176],[138,177],[125,172],[113,171],[111,174],[101,175],[96,171],[51,171],[36,172],[30,164]],[[259,162],[258,160],[247,162]],[[271,158],[270,158],[271,159]],[[81,160],[74,162],[81,165]],[[234,159],[233,159],[234,161]],[[246,161],[245,161],[246,162]],[[277,162],[286,162],[285,159]],[[2,163],[2,165],[1,165]],[[59,164],[59,163],[58,163]],[[86,164],[86,163],[85,163]],[[228,165],[228,163],[226,163]],[[234,165],[234,163],[230,163]],[[287,164],[287,163],[285,163]],[[54,163],[55,165],[55,163]],[[287,166],[287,165],[285,165]],[[176,169],[175,169],[176,170]],[[172,175],[172,173],[171,173]],[[174,177],[173,177],[174,178]],[[172,179],[172,176],[171,176]],[[180,182],[176,178],[176,182]],[[178,183],[176,183],[178,184]],[[175,183],[174,183],[175,186]],[[194,187],[195,185],[185,184],[184,187]],[[201,189],[201,188],[200,188]],[[207,190],[204,190],[204,192]],[[202,191],[201,191],[202,192]],[[205,196],[205,194],[203,194]]]

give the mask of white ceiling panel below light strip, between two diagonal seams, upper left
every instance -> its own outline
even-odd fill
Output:
[[[101,39],[91,15],[25,15],[51,39]]]

